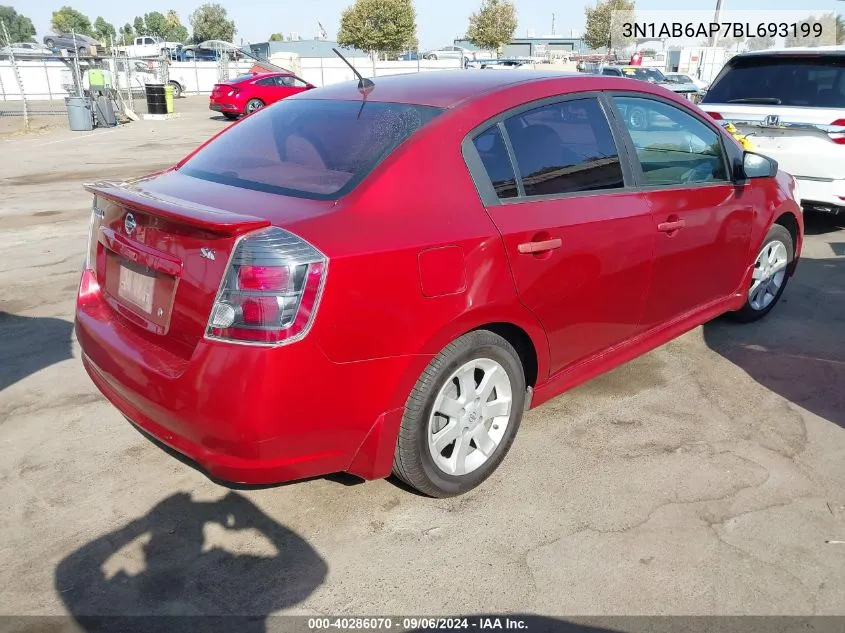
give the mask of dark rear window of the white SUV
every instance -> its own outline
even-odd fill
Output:
[[[845,108],[845,56],[737,59],[702,103]]]

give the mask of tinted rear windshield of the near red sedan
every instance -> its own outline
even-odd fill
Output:
[[[398,103],[285,99],[232,126],[181,172],[269,193],[338,198],[442,111]]]

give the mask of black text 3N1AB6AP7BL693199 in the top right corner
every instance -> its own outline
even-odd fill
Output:
[[[625,22],[622,37],[810,37],[824,34],[821,22]]]

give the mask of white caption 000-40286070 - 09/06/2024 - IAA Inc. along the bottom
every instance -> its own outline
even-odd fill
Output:
[[[503,616],[476,617],[366,617],[366,618],[309,618],[311,631],[453,631],[453,630],[526,630],[528,623],[521,618]]]

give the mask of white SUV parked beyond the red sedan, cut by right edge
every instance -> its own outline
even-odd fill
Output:
[[[804,209],[845,213],[845,46],[736,55],[700,106],[795,176]]]

